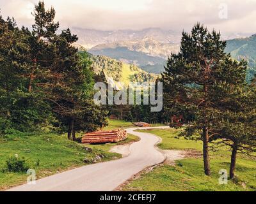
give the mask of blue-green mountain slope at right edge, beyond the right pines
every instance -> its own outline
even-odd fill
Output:
[[[249,38],[228,40],[225,52],[230,53],[237,61],[248,61],[246,80],[250,82],[256,74],[256,34]]]

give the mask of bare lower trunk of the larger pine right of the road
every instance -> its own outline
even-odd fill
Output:
[[[210,163],[209,163],[209,129],[207,126],[203,129],[204,137],[204,173],[207,176],[211,175]]]

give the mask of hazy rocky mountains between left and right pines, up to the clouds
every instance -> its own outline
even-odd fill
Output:
[[[159,28],[140,31],[73,28],[72,32],[79,36],[77,43],[93,55],[106,55],[157,74],[163,71],[168,55],[179,52],[181,38],[179,32]]]

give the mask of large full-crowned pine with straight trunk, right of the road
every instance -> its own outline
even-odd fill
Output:
[[[179,54],[172,54],[162,75],[164,103],[175,115],[190,112],[195,119],[186,128],[186,135],[199,131],[203,140],[204,171],[211,175],[209,142],[212,140],[214,113],[228,108],[216,87],[222,82],[232,85],[244,83],[246,62],[232,61],[225,54],[225,41],[220,33],[207,29],[199,23],[191,34],[182,32]]]

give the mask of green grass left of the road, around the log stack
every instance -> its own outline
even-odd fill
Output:
[[[132,127],[131,122],[109,120],[109,126],[105,129],[127,127]],[[117,145],[135,141],[138,141],[138,138],[129,135],[127,140]],[[67,135],[55,133],[20,133],[0,136],[0,190],[24,184],[28,177],[26,173],[3,171],[6,167],[6,160],[10,157],[24,157],[26,164],[29,168],[36,170],[36,177],[40,179],[86,164],[122,157],[120,154],[108,152],[114,145],[116,144],[81,145],[67,140]],[[84,146],[92,148],[92,151]],[[99,156],[102,157],[101,160],[95,161],[95,158]]]

